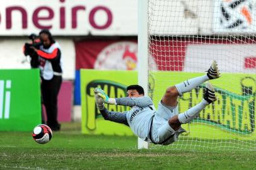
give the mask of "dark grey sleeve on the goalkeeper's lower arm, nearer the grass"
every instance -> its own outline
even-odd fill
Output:
[[[100,110],[100,113],[102,114],[105,120],[110,120],[112,122],[122,123],[124,125],[129,126],[126,118],[127,111],[124,111],[124,112],[108,111],[106,108],[104,108],[104,110]]]

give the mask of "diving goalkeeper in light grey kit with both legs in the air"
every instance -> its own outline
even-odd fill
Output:
[[[218,65],[213,61],[206,75],[167,88],[158,104],[158,110],[154,108],[152,99],[144,96],[144,89],[139,85],[128,86],[125,98],[108,98],[102,89],[95,88],[96,106],[105,120],[129,126],[142,140],[169,145],[178,140],[180,133],[185,132],[181,127],[182,124],[191,122],[207,105],[217,100],[214,88],[206,81],[218,77],[220,77]],[[178,96],[191,91],[202,82],[206,82],[206,91],[201,103],[178,114]],[[108,111],[104,103],[131,106],[132,109],[124,112]]]

